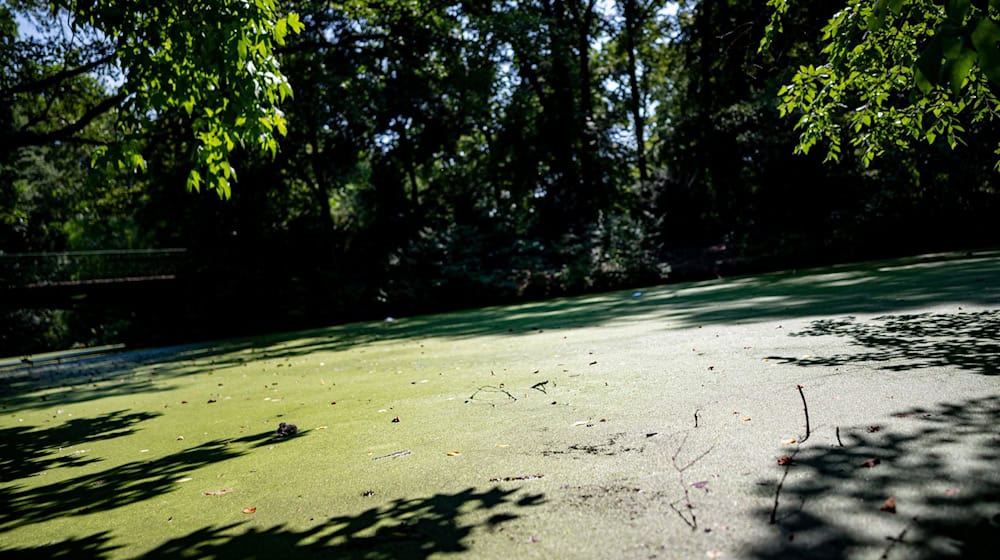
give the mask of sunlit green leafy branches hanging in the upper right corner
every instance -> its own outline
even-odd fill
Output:
[[[791,3],[768,0],[761,50]],[[916,141],[963,143],[968,127],[1000,112],[998,15],[998,0],[848,0],[823,29],[826,60],[801,66],[778,91],[781,114],[799,115],[796,150],[825,141],[826,159],[836,160],[849,136],[868,165]]]

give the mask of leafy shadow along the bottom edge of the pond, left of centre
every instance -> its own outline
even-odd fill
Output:
[[[513,511],[544,503],[541,494],[518,496],[517,489],[474,488],[425,498],[396,499],[356,515],[331,517],[297,530],[285,525],[251,526],[249,521],[210,525],[169,540],[142,558],[345,558],[421,559],[470,549],[476,531],[493,531],[518,519]],[[489,515],[463,523],[463,515]],[[109,558],[116,546],[106,533],[37,548],[0,550],[0,558]]]

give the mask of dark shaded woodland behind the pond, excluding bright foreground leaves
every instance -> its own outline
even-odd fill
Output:
[[[782,30],[769,35],[776,5]],[[244,131],[251,141],[217,139],[218,177],[192,174],[216,161],[203,100],[136,111],[142,92],[120,91],[121,41],[51,7],[0,4],[0,355],[1000,240],[995,106],[929,109],[913,125],[929,142],[873,149],[849,124],[883,112],[844,99],[831,117],[848,123],[834,128],[836,153],[796,153],[809,129],[795,128],[786,86],[829,62],[824,30],[843,0],[286,0],[280,10],[296,17],[267,33],[281,35],[273,60],[294,94],[279,91],[280,110]],[[112,28],[144,29],[128,16]],[[212,45],[188,45],[198,47]],[[899,67],[920,54],[909,48]],[[873,69],[884,77],[884,64]],[[942,95],[968,96],[975,75],[959,74]],[[887,97],[939,87],[912,79]],[[122,138],[122,157],[105,165]],[[169,281],[62,299],[26,288],[149,266]]]

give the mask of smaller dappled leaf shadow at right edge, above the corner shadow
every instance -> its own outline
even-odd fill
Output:
[[[866,322],[853,317],[824,319],[793,336],[842,336],[868,351],[772,359],[800,366],[875,363],[888,371],[953,367],[982,375],[1000,373],[1000,311],[996,310],[886,315]]]

